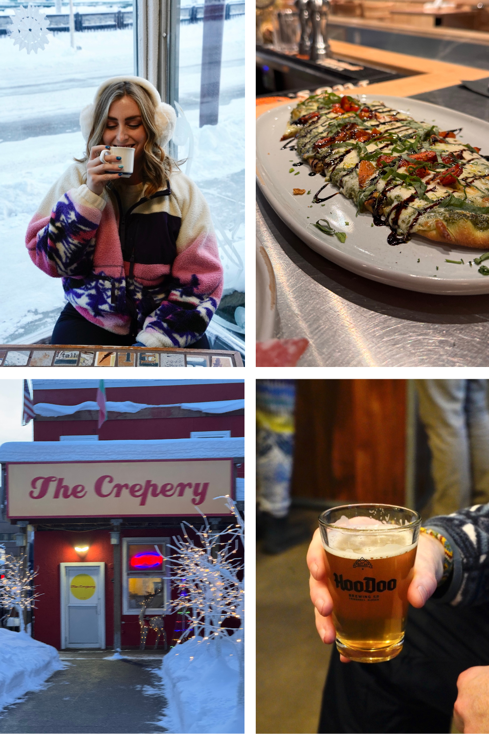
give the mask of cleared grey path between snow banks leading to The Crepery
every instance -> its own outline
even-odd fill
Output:
[[[129,651],[128,658],[106,660],[111,650],[59,653],[67,664],[48,678],[45,689],[28,693],[0,713],[0,732],[133,733],[164,732],[158,725],[165,700],[160,678],[163,655]]]

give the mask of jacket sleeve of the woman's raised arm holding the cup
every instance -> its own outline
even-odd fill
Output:
[[[29,222],[26,247],[30,258],[51,277],[84,277],[92,269],[106,194],[94,194],[85,179],[83,164],[70,166]]]

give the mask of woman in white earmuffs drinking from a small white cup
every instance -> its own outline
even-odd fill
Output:
[[[104,82],[82,110],[87,153],[26,235],[34,264],[65,290],[51,344],[208,348],[222,266],[202,193],[163,152],[175,123],[135,76]]]

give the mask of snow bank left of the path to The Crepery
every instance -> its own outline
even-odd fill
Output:
[[[25,632],[0,628],[0,711],[27,691],[37,691],[56,670],[65,666],[51,645]]]

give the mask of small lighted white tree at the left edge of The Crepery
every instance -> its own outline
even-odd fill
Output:
[[[34,592],[34,578],[38,571],[27,567],[26,556],[7,556],[1,568],[0,606],[16,609],[21,620],[21,632],[26,631],[24,612],[35,608],[34,600],[40,596]]]

